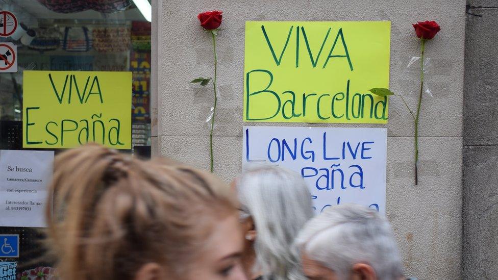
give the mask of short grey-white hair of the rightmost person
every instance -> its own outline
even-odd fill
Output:
[[[357,263],[374,268],[377,278],[403,276],[400,254],[387,219],[359,205],[334,206],[310,220],[296,239],[309,259],[347,279]]]

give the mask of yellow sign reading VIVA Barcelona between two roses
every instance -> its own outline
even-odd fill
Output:
[[[247,21],[244,121],[386,123],[390,21]]]

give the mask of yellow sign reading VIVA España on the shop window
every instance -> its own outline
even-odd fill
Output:
[[[131,72],[24,71],[22,147],[131,149]]]

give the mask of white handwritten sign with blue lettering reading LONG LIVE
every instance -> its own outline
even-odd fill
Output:
[[[387,129],[244,126],[242,158],[301,174],[317,213],[342,203],[386,211]]]

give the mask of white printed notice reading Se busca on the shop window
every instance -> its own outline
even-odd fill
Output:
[[[0,226],[46,226],[53,171],[53,151],[0,150]]]

